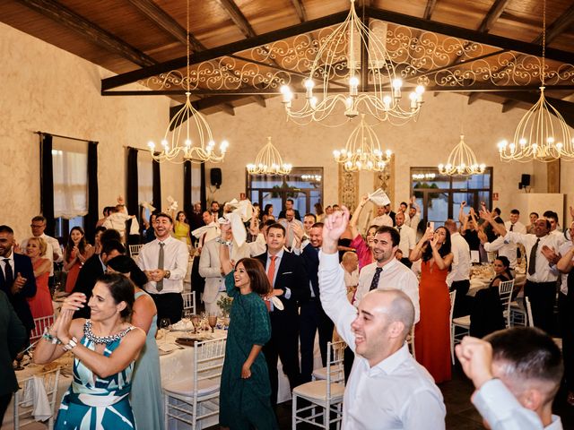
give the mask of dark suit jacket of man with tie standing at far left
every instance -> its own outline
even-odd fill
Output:
[[[34,268],[32,267],[32,261],[28,255],[14,254],[14,268],[13,268],[14,279],[21,274],[23,278],[26,278],[26,283],[22,287],[19,293],[12,294],[10,288],[11,285],[6,285],[6,280],[4,279],[4,272],[0,271],[0,290],[4,291],[8,300],[13,305],[14,311],[20,318],[20,321],[26,327],[26,330],[32,330],[34,328],[34,318],[30,312],[30,306],[28,305],[27,297],[34,297],[36,295],[36,277],[34,277]]]

